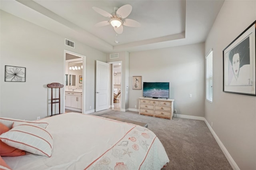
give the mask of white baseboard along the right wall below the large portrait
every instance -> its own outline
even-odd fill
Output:
[[[228,162],[230,163],[230,165],[232,166],[232,168],[234,170],[240,170],[240,168],[238,167],[238,165],[236,164],[236,162],[234,161],[234,159],[232,158],[232,156],[229,154],[228,150],[226,149],[226,147],[224,146],[224,144],[221,142],[220,138],[217,136],[217,134],[214,132],[214,130],[212,129],[212,127],[210,126],[210,124],[208,123],[208,121],[206,121],[206,119],[204,118],[204,122],[206,123],[207,127],[209,128],[209,130],[211,131],[213,137],[215,138],[216,142],[218,143],[218,145],[220,146],[220,149],[222,150],[222,152],[224,153],[224,155],[226,156]]]

